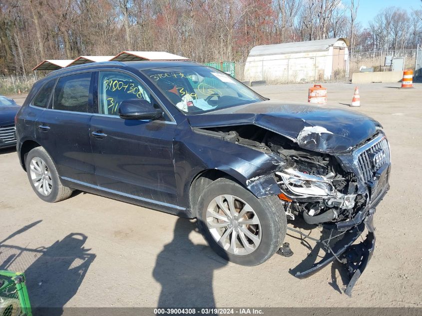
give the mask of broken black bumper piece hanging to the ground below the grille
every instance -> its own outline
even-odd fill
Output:
[[[307,278],[331,262],[339,260],[342,263],[343,269],[349,276],[349,283],[345,293],[348,296],[351,296],[353,287],[364,272],[368,262],[371,260],[375,249],[374,212],[375,209],[371,209],[364,221],[347,231],[344,237],[337,241],[333,247],[327,247],[325,243],[320,241],[320,243],[323,244],[321,247],[325,248],[327,251],[326,255],[319,262],[314,263],[310,269],[303,272],[297,272],[295,277],[299,279]],[[365,227],[368,230],[366,239],[359,244],[353,245],[362,235]]]

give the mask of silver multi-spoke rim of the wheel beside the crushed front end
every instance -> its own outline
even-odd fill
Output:
[[[224,194],[207,208],[208,231],[217,244],[230,254],[245,256],[261,243],[261,222],[253,208],[241,198]]]

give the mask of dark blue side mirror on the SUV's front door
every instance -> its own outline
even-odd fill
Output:
[[[126,120],[156,120],[163,114],[151,103],[142,99],[124,100],[119,106],[119,116]]]

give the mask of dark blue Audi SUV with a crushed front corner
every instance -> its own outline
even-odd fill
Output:
[[[370,260],[389,189],[380,123],[354,111],[269,100],[194,62],[102,62],[53,71],[16,116],[17,153],[46,202],[82,190],[197,218],[210,247],[254,266],[292,254],[286,231],[321,226],[350,294]],[[357,239],[367,232],[365,241]],[[309,260],[308,260],[309,261]]]

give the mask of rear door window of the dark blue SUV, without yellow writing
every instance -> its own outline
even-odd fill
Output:
[[[88,112],[91,72],[77,73],[58,79],[54,89],[53,109]]]

